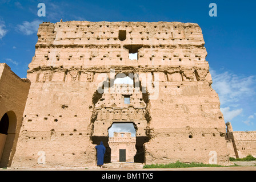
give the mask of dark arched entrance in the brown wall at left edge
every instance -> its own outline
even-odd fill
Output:
[[[0,167],[7,167],[11,162],[17,118],[14,111],[3,114],[0,121]]]

